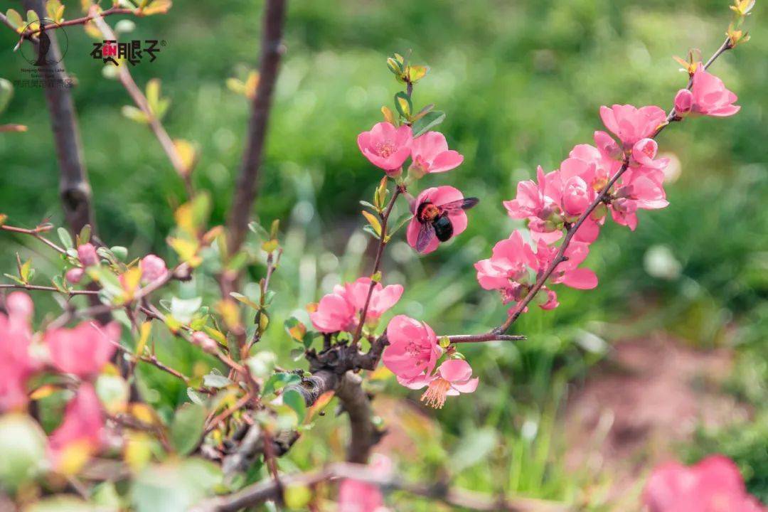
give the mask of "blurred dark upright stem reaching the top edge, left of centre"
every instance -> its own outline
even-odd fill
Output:
[[[285,0],[267,0],[264,6],[261,29],[261,55],[259,84],[253,97],[246,148],[237,179],[232,210],[230,210],[229,239],[227,251],[237,253],[243,245],[250,220],[250,210],[256,199],[257,179],[261,167],[266,125],[270,117],[272,93],[277,80],[280,55],[283,54],[283,21],[285,19]],[[231,290],[230,290],[231,291]]]

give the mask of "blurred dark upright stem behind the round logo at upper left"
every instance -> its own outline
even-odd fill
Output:
[[[25,9],[31,9],[38,13],[40,18],[45,18],[45,5],[42,0],[24,0]],[[51,87],[45,87],[45,101],[48,103],[48,111],[51,114],[51,128],[56,144],[56,157],[58,158],[59,196],[64,207],[67,223],[73,233],[80,233],[86,224],[94,229],[93,207],[91,206],[91,184],[88,183],[88,171],[85,168],[82,142],[78,120],[74,114],[74,104],[70,89],[66,84],[71,81],[64,68],[61,59],[61,50],[58,47],[56,35],[51,31],[48,35],[51,47],[48,56],[57,64],[43,66],[44,73],[54,81]],[[37,44],[30,43],[37,49]],[[61,85],[59,85],[61,84]]]

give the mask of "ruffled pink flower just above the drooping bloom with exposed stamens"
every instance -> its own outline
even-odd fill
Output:
[[[382,361],[406,387],[411,387],[420,375],[429,375],[442,354],[432,328],[406,315],[389,321],[386,336],[389,346],[384,349]]]

